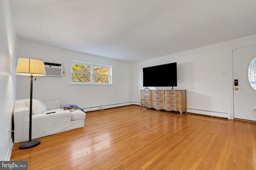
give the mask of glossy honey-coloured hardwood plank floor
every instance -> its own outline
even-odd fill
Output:
[[[256,170],[256,123],[124,106],[86,113],[85,127],[40,138],[11,160],[29,170]]]

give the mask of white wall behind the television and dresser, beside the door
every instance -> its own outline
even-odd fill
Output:
[[[178,86],[174,89],[187,90],[188,111],[232,118],[232,49],[255,44],[256,35],[252,35],[134,63],[134,102],[140,102],[144,89],[143,67],[177,62]]]

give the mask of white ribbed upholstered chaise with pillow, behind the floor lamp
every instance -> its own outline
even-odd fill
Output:
[[[14,102],[14,143],[29,140],[29,99]],[[52,113],[54,112],[54,113]],[[47,114],[50,113],[50,114]],[[59,101],[32,101],[32,139],[84,127],[86,113],[60,109]]]

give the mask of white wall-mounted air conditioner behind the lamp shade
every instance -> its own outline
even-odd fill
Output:
[[[44,62],[46,76],[62,77],[62,64]]]

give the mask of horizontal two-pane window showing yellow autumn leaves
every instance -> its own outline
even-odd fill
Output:
[[[112,84],[112,66],[71,61],[74,84]]]

